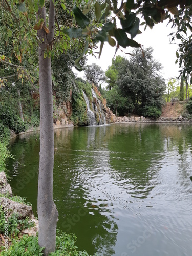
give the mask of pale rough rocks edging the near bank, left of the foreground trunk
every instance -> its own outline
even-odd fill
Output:
[[[19,203],[11,200],[8,197],[12,197],[12,189],[10,184],[7,183],[6,174],[4,172],[0,173],[0,193],[5,195],[4,197],[0,197],[0,206],[2,206],[3,211],[8,210],[7,217],[10,217],[12,214],[18,214],[19,219],[25,219],[26,217],[29,217],[29,222],[34,222],[35,226],[23,230],[25,234],[30,235],[36,235],[36,232],[38,231],[38,220],[34,218],[32,207],[29,205],[26,205],[24,203]]]

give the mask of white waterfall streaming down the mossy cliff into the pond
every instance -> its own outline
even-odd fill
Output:
[[[105,116],[101,108],[101,102],[97,98],[97,95],[95,94],[94,90],[91,89],[92,96],[95,98],[94,103],[92,102],[93,111],[90,110],[90,101],[87,97],[87,95],[83,92],[84,100],[87,104],[87,115],[89,119],[89,125],[102,125],[105,124]]]

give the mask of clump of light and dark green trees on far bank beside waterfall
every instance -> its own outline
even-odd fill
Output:
[[[119,115],[136,113],[158,117],[164,102],[162,66],[152,56],[153,49],[136,49],[130,60],[117,56],[106,71],[109,78],[108,106]]]

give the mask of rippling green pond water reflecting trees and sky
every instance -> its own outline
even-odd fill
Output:
[[[13,193],[37,216],[39,134],[17,137]],[[192,254],[192,126],[114,124],[55,130],[58,227],[91,255]]]

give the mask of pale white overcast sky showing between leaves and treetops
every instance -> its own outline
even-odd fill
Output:
[[[153,29],[147,27],[146,30],[143,31],[142,34],[137,35],[134,40],[139,42],[143,48],[151,46],[154,49],[153,58],[162,64],[163,69],[161,75],[167,83],[170,78],[179,76],[179,65],[175,64],[178,45],[170,44],[170,38],[168,35],[173,31],[170,25],[166,25],[167,20],[163,23],[156,24]],[[140,30],[141,28],[142,27],[140,27]],[[125,53],[131,53],[133,48],[127,47],[124,49],[121,47],[120,49],[123,50],[124,53],[118,50],[116,56],[121,55],[129,59],[129,55]],[[99,45],[96,52],[99,52]],[[98,59],[98,54],[95,54],[97,58],[89,55],[87,65],[96,63],[103,71],[106,71],[108,66],[112,64],[114,54],[115,47],[111,47],[108,42],[105,42],[100,59]],[[74,72],[77,73],[77,76],[83,77],[83,72],[77,72],[76,70],[74,70]]]

